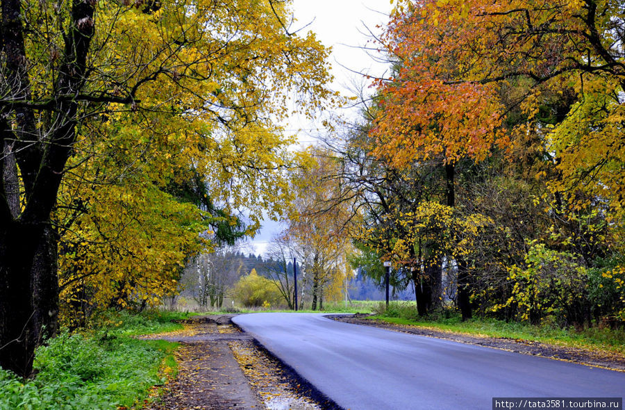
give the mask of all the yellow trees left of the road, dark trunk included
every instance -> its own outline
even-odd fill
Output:
[[[279,124],[333,98],[328,51],[288,16],[283,1],[2,3],[3,367],[27,375],[42,325],[55,332],[57,254],[72,298],[89,280],[101,303],[149,302],[199,232],[283,211],[299,157]],[[197,175],[212,208],[176,197]]]

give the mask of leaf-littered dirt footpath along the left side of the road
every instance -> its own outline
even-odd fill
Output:
[[[290,371],[232,325],[231,317],[194,318],[181,331],[145,337],[181,347],[178,376],[144,409],[322,409]]]

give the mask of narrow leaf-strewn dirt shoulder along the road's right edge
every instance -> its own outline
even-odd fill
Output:
[[[507,350],[533,356],[544,356],[551,359],[572,361],[586,366],[594,366],[625,372],[625,356],[623,354],[610,352],[595,352],[592,350],[580,349],[577,347],[563,347],[558,345],[547,345],[546,343],[534,341],[522,341],[510,338],[492,338],[488,336],[474,336],[468,334],[458,334],[451,331],[427,329],[418,326],[395,325],[393,323],[382,322],[381,320],[365,319],[362,316],[342,316],[330,315],[334,320],[340,322],[354,323],[356,325],[381,327],[394,331],[403,331],[410,334],[429,336],[446,339],[469,345],[481,345],[494,349]]]

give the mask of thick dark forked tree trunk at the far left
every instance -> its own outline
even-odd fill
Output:
[[[64,55],[53,85],[58,101],[42,108],[54,117],[49,129],[28,106],[33,98],[22,1],[2,0],[1,13],[3,79],[10,99],[22,104],[3,105],[0,111],[0,151],[9,151],[0,156],[0,367],[28,377],[35,348],[57,328],[58,238],[51,213],[76,138],[78,103],[73,98],[85,83],[94,3],[72,3],[71,28],[63,38]],[[11,125],[9,118],[15,118]],[[15,192],[20,187],[16,163],[24,188],[23,207]]]

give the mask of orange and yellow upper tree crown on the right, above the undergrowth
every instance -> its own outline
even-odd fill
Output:
[[[456,206],[459,159],[480,162],[496,149],[511,153],[530,135],[557,170],[549,181],[554,212],[592,213],[595,199],[605,198],[608,212],[620,215],[615,192],[625,179],[617,171],[617,130],[625,77],[616,45],[624,35],[619,4],[398,1],[383,36],[399,68],[378,83],[383,109],[372,129],[381,142],[378,154],[400,167],[442,156],[447,205]],[[516,107],[521,115],[510,121]],[[609,154],[603,147],[612,147]],[[468,279],[468,263],[458,261],[460,282]],[[458,289],[465,317],[467,285]]]

